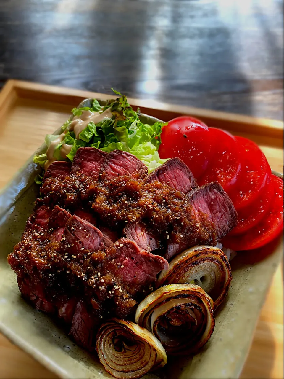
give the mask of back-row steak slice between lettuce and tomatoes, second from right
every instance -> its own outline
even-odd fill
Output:
[[[196,180],[188,166],[180,158],[172,158],[155,169],[146,178],[146,183],[158,180],[165,183],[177,191],[188,193],[197,187]]]

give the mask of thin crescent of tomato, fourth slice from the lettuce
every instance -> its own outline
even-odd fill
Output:
[[[242,234],[258,224],[270,209],[270,203],[275,192],[275,183],[270,180],[265,191],[256,199],[248,209],[241,209],[238,212],[239,220],[237,226],[230,232],[229,236]]]

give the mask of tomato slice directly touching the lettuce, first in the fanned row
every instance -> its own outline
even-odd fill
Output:
[[[168,122],[161,133],[161,158],[182,159],[199,178],[211,160],[212,141],[208,127],[194,117],[181,116]]]

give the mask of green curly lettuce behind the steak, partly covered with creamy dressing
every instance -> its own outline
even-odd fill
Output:
[[[144,124],[140,119],[140,110],[134,111],[127,102],[126,96],[115,90],[113,92],[119,97],[107,100],[104,107],[99,104],[98,100],[94,99],[90,107],[73,108],[73,115],[78,117],[84,110],[102,112],[110,108],[112,118],[105,118],[98,124],[90,122],[79,134],[78,139],[76,139],[74,132],[68,131],[71,120],[67,120],[61,129],[62,132],[65,132],[64,139],[57,144],[53,156],[57,160],[63,159],[60,153],[62,144],[71,145],[71,151],[66,156],[66,159],[71,161],[73,161],[79,147],[91,146],[105,152],[118,149],[135,155],[148,166],[148,171],[151,172],[166,161],[166,159],[160,159],[158,154],[161,131],[165,124],[160,121],[153,125]],[[45,138],[47,147],[58,137],[59,135],[47,135]],[[45,157],[43,155],[34,157],[34,161],[42,167],[44,167],[46,160],[46,154]],[[37,181],[39,182],[40,178],[37,178]]]

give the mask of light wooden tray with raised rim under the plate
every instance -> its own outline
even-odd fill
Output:
[[[44,136],[47,133],[53,133],[69,117],[71,108],[87,97],[107,99],[112,96],[13,80],[6,83],[0,93],[0,188],[11,180],[15,172],[42,144]],[[129,99],[129,102],[133,106],[139,105],[143,113],[164,121],[180,114],[191,114],[199,117],[209,126],[220,127],[233,134],[246,136],[259,144],[272,169],[282,172],[283,123],[280,121],[169,105],[152,100]],[[273,282],[274,287],[264,306],[266,312],[261,314],[253,348],[242,373],[244,378],[276,378],[282,375],[283,291],[281,279],[281,271],[278,270]],[[2,349],[5,354],[0,354],[0,357],[5,356],[6,363],[1,362],[0,358],[0,377],[53,376],[20,352],[18,353],[19,362],[22,360],[23,363],[17,370],[14,359],[15,350],[3,338],[0,339],[0,350]],[[9,351],[11,351],[11,356],[7,354]],[[9,357],[12,362],[10,368],[7,365]],[[22,370],[25,362],[31,365],[29,371],[26,368]],[[33,372],[33,368],[37,367],[39,367],[38,374]]]

